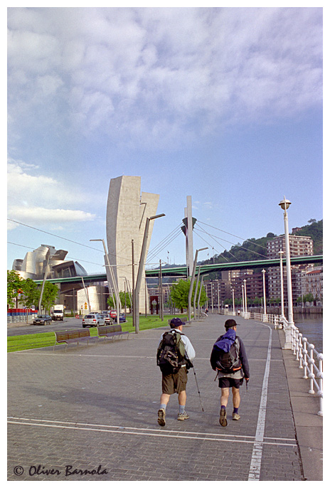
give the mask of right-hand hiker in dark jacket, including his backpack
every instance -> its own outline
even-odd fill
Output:
[[[228,424],[226,408],[230,387],[233,392],[233,420],[240,420],[240,386],[243,385],[244,379],[248,386],[250,376],[245,346],[242,339],[236,335],[236,329],[234,319],[225,321],[225,334],[215,341],[210,359],[212,368],[218,371],[216,378],[221,388],[219,422],[223,427]]]

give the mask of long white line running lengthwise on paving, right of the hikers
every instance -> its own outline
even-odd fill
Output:
[[[270,376],[270,356],[272,353],[272,329],[269,325],[265,325],[270,329],[270,339],[268,341],[267,360],[265,367],[264,380],[262,382],[262,392],[260,398],[259,415],[257,420],[257,430],[255,431],[255,443],[253,446],[250,471],[248,481],[259,481],[260,468],[262,460],[262,447],[264,442],[265,422],[266,422],[266,408],[267,408],[267,391],[268,378]]]

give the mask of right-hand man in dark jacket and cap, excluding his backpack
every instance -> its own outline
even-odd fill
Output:
[[[219,388],[221,388],[221,397],[220,397],[220,418],[219,422],[220,425],[225,427],[227,425],[227,413],[226,413],[226,407],[228,404],[228,398],[229,398],[229,389],[230,387],[232,388],[233,392],[233,420],[240,420],[240,415],[238,413],[238,408],[240,406],[240,386],[243,385],[243,381],[248,383],[249,381],[249,376],[250,376],[250,371],[249,371],[249,363],[248,363],[248,357],[246,355],[245,351],[245,346],[243,344],[242,339],[240,337],[236,336],[236,329],[237,329],[237,324],[234,319],[228,319],[225,321],[225,331],[226,333],[220,336],[216,342],[220,341],[221,339],[224,339],[225,336],[230,336],[230,334],[227,334],[228,331],[232,330],[232,336],[233,340],[237,339],[238,340],[238,345],[239,345],[239,351],[238,351],[238,368],[237,371],[233,373],[223,373],[222,371],[218,371],[217,378],[219,380]],[[234,333],[235,331],[235,333]],[[213,358],[214,354],[214,349],[211,354],[211,366],[213,369],[215,368],[215,359]]]

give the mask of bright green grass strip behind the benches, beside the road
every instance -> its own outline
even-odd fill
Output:
[[[168,319],[175,317],[174,315],[164,315],[164,321],[161,321],[158,315],[148,315],[147,317],[139,317],[139,330],[156,329],[157,327],[167,327]],[[127,317],[127,322],[122,325],[123,331],[134,333],[132,317]],[[77,329],[81,328],[81,324],[77,324]],[[65,330],[65,326],[63,327]],[[97,336],[97,327],[90,327],[90,336]],[[7,352],[25,351],[27,349],[37,349],[41,347],[50,347],[55,344],[55,332],[38,332],[37,334],[22,334],[18,336],[7,337]]]

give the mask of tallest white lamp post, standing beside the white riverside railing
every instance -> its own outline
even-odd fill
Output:
[[[284,199],[279,203],[282,210],[284,210],[284,236],[285,236],[285,257],[287,266],[287,327],[284,327],[285,344],[284,349],[292,349],[292,329],[293,322],[293,303],[292,303],[292,281],[291,281],[291,260],[290,260],[290,244],[289,244],[289,223],[287,220],[287,209],[291,202]]]

